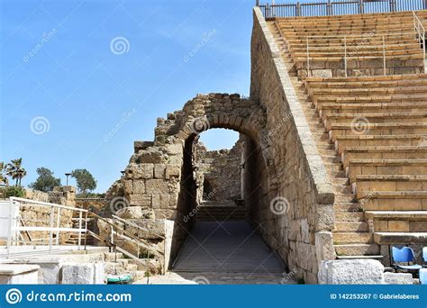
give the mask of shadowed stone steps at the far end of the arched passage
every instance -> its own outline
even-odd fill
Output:
[[[197,222],[244,221],[246,219],[246,207],[232,201],[204,201],[200,204],[196,216]]]

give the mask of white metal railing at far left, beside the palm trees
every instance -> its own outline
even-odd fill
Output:
[[[49,241],[49,251],[52,251],[53,245],[59,245],[59,235],[60,232],[77,232],[78,234],[78,249],[81,249],[81,240],[82,234],[86,234],[86,222],[85,227],[83,227],[83,213],[87,213],[87,210],[80,209],[77,207],[61,205],[61,204],[51,204],[47,202],[34,201],[24,198],[11,197],[8,202],[3,203],[3,206],[8,206],[6,216],[0,216],[0,220],[7,221],[7,258],[10,258],[11,247],[14,245],[18,245],[23,241],[23,244],[26,244],[25,240],[23,240],[23,235],[19,235],[21,231],[30,232],[30,231],[40,231],[40,232],[48,232],[49,237],[47,239]],[[6,205],[5,205],[6,204]],[[34,212],[41,212],[42,209],[48,209],[49,219],[30,219],[28,217],[23,217],[23,208],[31,207]],[[61,227],[60,218],[63,211],[72,211],[71,216],[75,212],[78,213],[78,227],[74,228],[73,225],[71,227]],[[62,213],[61,213],[62,212]],[[55,220],[56,217],[56,220]],[[33,222],[33,223],[25,223],[25,222]],[[55,234],[55,237],[54,237]],[[18,240],[21,238],[21,240]],[[55,243],[54,243],[55,238]],[[35,244],[36,241],[40,241],[41,239],[30,239],[32,244]],[[41,242],[42,243],[42,242]]]

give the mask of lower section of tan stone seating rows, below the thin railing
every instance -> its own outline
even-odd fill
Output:
[[[426,240],[427,75],[305,82],[364,211],[359,222],[368,222],[346,231],[341,224],[353,219],[336,213],[336,244],[358,243],[368,252],[373,242]]]

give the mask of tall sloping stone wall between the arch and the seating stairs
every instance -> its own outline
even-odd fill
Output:
[[[326,174],[302,105],[259,8],[254,9],[250,98],[268,114],[269,204],[253,213],[262,237],[288,267],[316,283],[320,261],[335,258],[332,245],[332,185]],[[261,176],[264,170],[253,170]],[[254,176],[257,176],[255,174]],[[265,187],[263,187],[265,189]]]

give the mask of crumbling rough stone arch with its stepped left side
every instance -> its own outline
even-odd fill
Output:
[[[266,123],[266,110],[258,102],[237,94],[197,95],[182,110],[157,120],[154,141],[135,141],[129,165],[107,197],[122,195],[130,207],[148,207],[156,219],[173,222],[172,240],[164,243],[165,267],[177,255],[194,222],[189,216],[195,210],[196,200],[189,191],[195,192],[195,182],[194,178],[190,183],[184,179],[192,177],[195,138],[214,128],[238,131],[245,136],[250,153],[246,167],[255,172],[248,177],[262,177],[264,187],[246,187],[258,190],[250,194],[248,202],[252,202],[250,198],[262,202],[268,192],[268,169],[274,170],[270,166]]]

